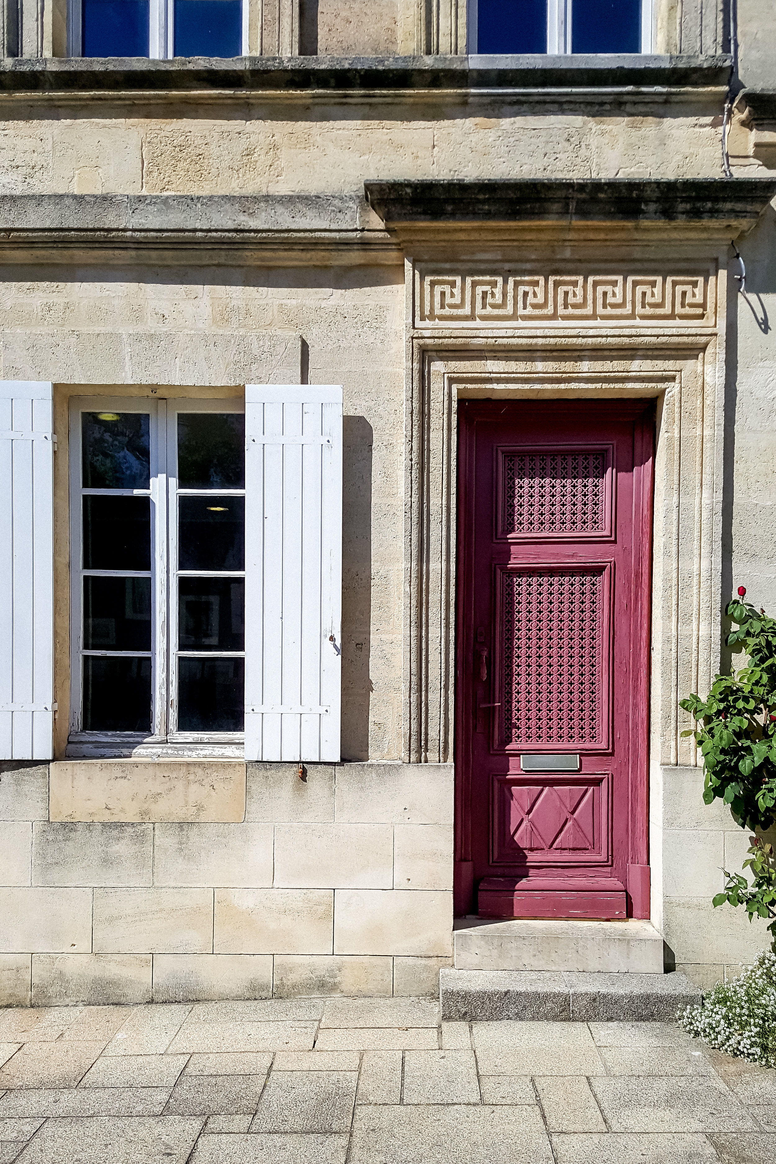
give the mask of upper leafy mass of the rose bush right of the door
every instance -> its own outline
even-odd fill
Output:
[[[704,759],[703,799],[721,797],[742,829],[767,830],[776,819],[776,619],[743,601],[746,589],[728,603],[738,630],[727,637],[734,651],[746,651],[747,666],[717,675],[705,700],[681,701],[700,726],[695,736]]]

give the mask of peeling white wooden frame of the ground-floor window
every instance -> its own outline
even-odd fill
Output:
[[[81,485],[81,413],[138,412],[150,417],[150,488],[84,489]],[[244,489],[185,489],[177,481],[177,416],[191,412],[243,413],[244,402],[227,399],[164,399],[156,396],[73,397],[70,404],[70,734],[69,757],[211,757],[242,759],[243,732],[177,731],[177,662],[178,655],[244,656],[230,651],[178,650],[178,497],[206,494],[244,496]],[[150,497],[151,505],[151,651],[84,651],[83,579],[85,575],[148,577],[149,572],[83,569],[84,496]],[[244,570],[183,572],[197,577],[244,577]],[[90,655],[130,655],[151,658],[151,732],[85,732],[81,728],[83,672],[81,658]]]

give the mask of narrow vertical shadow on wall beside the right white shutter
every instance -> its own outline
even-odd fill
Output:
[[[372,426],[342,418],[342,758],[369,759]]]

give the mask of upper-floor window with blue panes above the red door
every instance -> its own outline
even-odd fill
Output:
[[[649,52],[650,0],[469,0],[472,52]]]

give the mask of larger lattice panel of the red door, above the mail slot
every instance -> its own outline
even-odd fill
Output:
[[[601,738],[604,570],[503,575],[503,730],[508,746]]]

